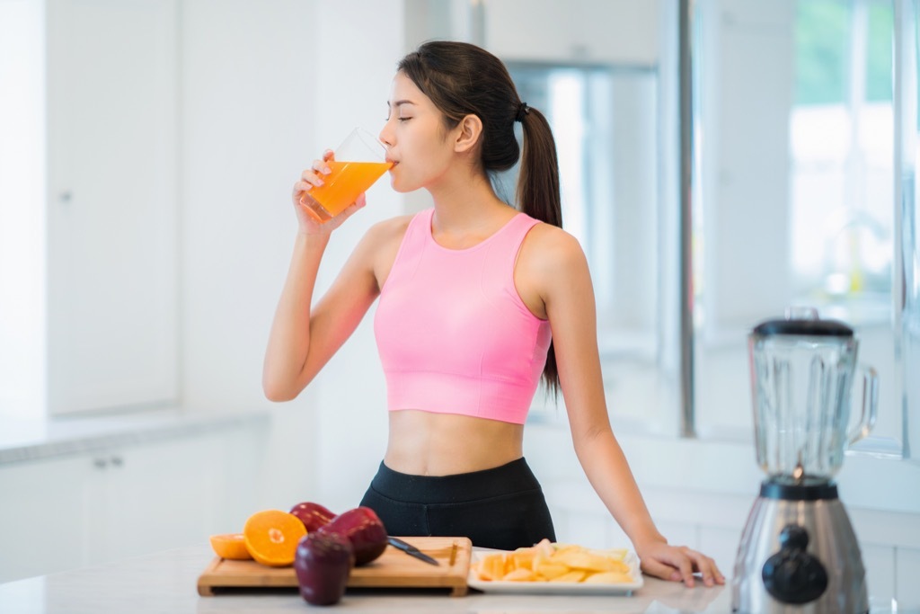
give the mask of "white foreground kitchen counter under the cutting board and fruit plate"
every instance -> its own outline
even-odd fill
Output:
[[[199,597],[198,576],[213,559],[207,546],[164,550],[97,567],[0,585],[0,612],[133,614],[162,612],[298,612],[311,607],[294,589],[264,589]],[[470,591],[350,590],[330,612],[729,612],[728,586],[706,588],[645,578],[632,596],[492,595]]]

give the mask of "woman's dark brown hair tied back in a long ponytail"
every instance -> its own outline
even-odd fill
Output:
[[[523,125],[523,159],[517,203],[525,214],[562,226],[556,142],[546,117],[523,105],[508,69],[500,59],[466,42],[429,41],[409,53],[398,69],[443,112],[454,128],[467,115],[482,122],[479,162],[487,174],[512,168],[522,158],[514,122]],[[558,392],[559,374],[552,343],[543,369],[546,388]]]

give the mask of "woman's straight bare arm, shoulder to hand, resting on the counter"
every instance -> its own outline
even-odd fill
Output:
[[[610,427],[594,291],[584,252],[568,233],[549,226],[540,230],[522,270],[529,272],[527,285],[538,289],[546,308],[572,443],[588,481],[632,541],[643,572],[692,586],[696,571],[706,585],[723,584],[724,576],[712,559],[669,545],[655,527]]]

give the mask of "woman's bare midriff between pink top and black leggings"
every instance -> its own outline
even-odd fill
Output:
[[[469,473],[523,456],[523,424],[419,410],[390,411],[389,422],[384,463],[400,473]]]

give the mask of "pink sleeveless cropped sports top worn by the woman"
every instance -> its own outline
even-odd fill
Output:
[[[374,317],[387,407],[523,424],[550,330],[518,295],[514,262],[539,222],[517,214],[472,248],[446,249],[433,214],[409,222]]]

